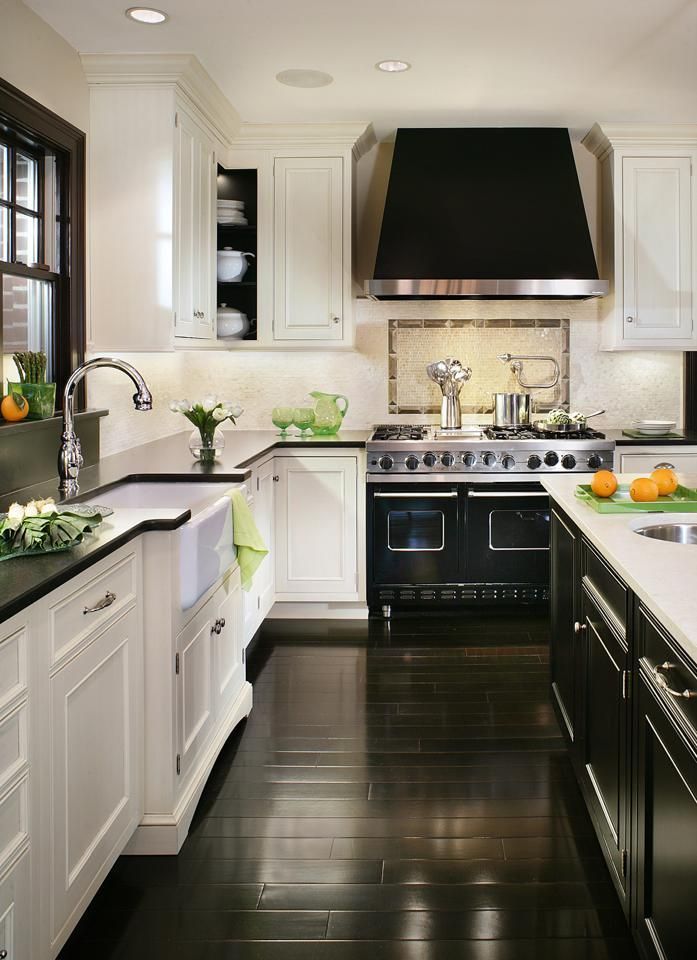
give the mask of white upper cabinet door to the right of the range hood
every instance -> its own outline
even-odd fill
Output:
[[[624,157],[624,339],[692,336],[689,157]]]

